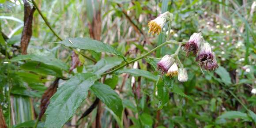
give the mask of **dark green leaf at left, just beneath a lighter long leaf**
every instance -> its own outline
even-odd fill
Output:
[[[32,71],[44,75],[53,75],[62,77],[62,71],[55,66],[47,65],[38,61],[30,61],[20,66],[25,71]]]

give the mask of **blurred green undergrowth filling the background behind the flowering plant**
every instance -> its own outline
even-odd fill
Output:
[[[27,1],[32,8],[32,1]],[[147,33],[148,21],[165,11],[173,13],[170,40],[186,41],[194,32],[202,32],[205,41],[211,44],[212,51],[216,54],[219,68],[214,72],[202,71],[195,62],[195,57],[186,56],[181,51],[179,56],[188,71],[188,81],[181,83],[177,78],[168,79],[172,86],[169,88],[172,89],[163,95],[167,100],[163,105],[163,99],[159,98],[161,94],[156,93],[160,88],[159,81],[157,83],[154,79],[132,73],[105,75],[100,82],[115,89],[122,100],[124,111],[121,118],[105,102],[107,106],[100,102],[97,103],[97,109],[78,120],[93,104],[96,96],[100,98],[95,93],[97,89],[91,89],[64,128],[75,128],[76,125],[78,128],[256,128],[256,93],[253,92],[256,88],[256,1],[34,2],[60,38],[56,37],[36,10],[33,35],[27,48],[27,54],[31,56],[13,60],[12,58],[21,55],[24,2],[0,0],[0,109],[8,128],[34,127],[42,111],[42,95],[47,92],[47,88],[53,86],[57,78],[61,78],[58,80],[61,87],[68,84],[65,78],[71,78],[77,73],[100,72],[99,66],[102,68],[104,65],[109,66],[110,62],[116,62],[113,65],[115,67],[122,62],[120,58],[108,62],[107,58],[113,56],[110,53],[72,50],[53,42],[67,38],[93,38],[112,45],[128,60],[132,60],[165,42],[167,24],[159,35]],[[177,45],[166,45],[150,56],[161,58],[165,54],[174,53],[176,49]],[[33,56],[34,54],[36,55]],[[69,73],[73,54],[77,55],[81,64]],[[141,70],[158,75],[159,72],[154,68],[158,59],[151,57],[138,60],[124,69],[135,68],[137,65]],[[95,61],[98,62],[96,68]],[[103,72],[110,71],[109,69]],[[140,87],[136,88],[139,97],[133,86]],[[37,127],[43,128],[45,120],[47,118],[43,115]]]

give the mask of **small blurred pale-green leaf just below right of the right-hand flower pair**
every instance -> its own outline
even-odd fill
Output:
[[[215,72],[220,76],[223,83],[225,83],[226,85],[232,84],[230,74],[229,74],[229,72],[226,71],[225,68],[220,66]]]

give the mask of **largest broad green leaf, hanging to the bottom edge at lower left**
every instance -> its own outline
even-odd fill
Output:
[[[59,87],[45,112],[45,128],[62,128],[87,98],[89,88],[97,79],[93,73],[79,73]]]

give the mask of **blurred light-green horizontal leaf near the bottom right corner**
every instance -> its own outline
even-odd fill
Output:
[[[226,119],[240,118],[240,119],[243,119],[243,120],[251,120],[250,117],[248,117],[248,115],[246,113],[242,113],[242,112],[239,112],[239,111],[228,111],[226,113],[223,113],[218,118],[226,118]]]

